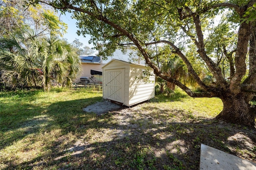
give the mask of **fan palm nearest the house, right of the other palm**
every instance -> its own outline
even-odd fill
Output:
[[[80,60],[71,45],[58,38],[50,36],[44,38],[42,43],[42,85],[45,90],[49,90],[52,82],[72,85],[72,80],[76,78],[81,70]]]

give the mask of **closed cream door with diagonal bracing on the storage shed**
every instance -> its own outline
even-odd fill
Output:
[[[124,69],[106,70],[106,98],[124,103]]]

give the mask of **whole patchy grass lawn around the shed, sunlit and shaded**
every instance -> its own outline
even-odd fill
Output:
[[[256,162],[256,130],[215,121],[217,98],[176,90],[105,115],[102,92],[0,93],[0,169],[198,169],[200,144]]]

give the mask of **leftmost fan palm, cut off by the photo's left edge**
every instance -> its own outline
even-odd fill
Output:
[[[33,65],[31,65],[34,57],[26,49],[25,44],[21,43],[28,40],[30,38],[28,35],[32,32],[25,30],[24,28],[23,32],[19,32],[9,39],[1,39],[0,70],[2,71],[2,79],[12,87],[27,86],[31,76],[34,76]]]

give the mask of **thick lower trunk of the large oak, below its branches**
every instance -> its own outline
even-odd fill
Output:
[[[256,108],[248,104],[242,94],[236,96],[226,95],[221,99],[223,110],[216,119],[248,127],[256,125]]]

